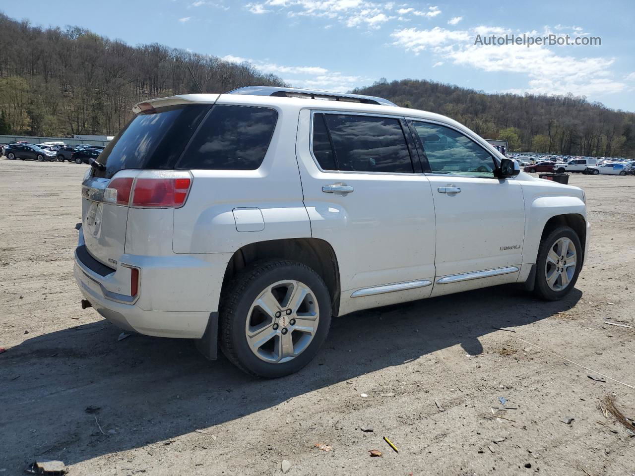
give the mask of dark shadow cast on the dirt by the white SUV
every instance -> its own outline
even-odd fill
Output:
[[[455,345],[478,355],[495,327],[545,319],[581,295],[544,302],[500,286],[356,312],[333,321],[309,366],[277,380],[250,378],[222,356],[208,362],[187,340],[119,341],[107,321],[30,338],[0,355],[0,466],[21,470],[36,456],[69,465],[166,442]]]

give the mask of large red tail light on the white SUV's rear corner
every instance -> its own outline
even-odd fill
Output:
[[[161,172],[161,175],[113,178],[104,190],[104,202],[135,208],[184,206],[192,187],[192,177],[180,172]]]

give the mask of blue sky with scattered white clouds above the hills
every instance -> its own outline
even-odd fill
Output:
[[[380,77],[410,77],[487,93],[573,93],[635,110],[632,0],[29,0],[0,10],[130,44],[249,60],[297,87],[347,91]],[[601,45],[474,44],[478,34],[512,33],[600,37]]]

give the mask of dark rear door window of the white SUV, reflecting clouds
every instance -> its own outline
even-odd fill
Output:
[[[326,159],[324,150],[316,154],[319,119],[323,116],[333,147],[337,170],[382,173],[413,173],[406,138],[398,119],[392,117],[349,116],[345,114],[314,115],[314,154]],[[321,164],[321,159],[318,158]],[[324,168],[324,167],[323,167]]]

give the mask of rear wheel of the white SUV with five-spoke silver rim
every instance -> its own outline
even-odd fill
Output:
[[[246,268],[220,305],[220,348],[242,371],[277,378],[318,353],[331,324],[331,297],[318,273],[294,261]]]

